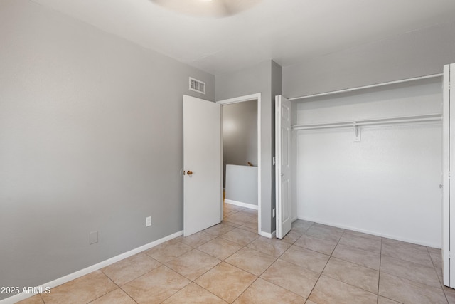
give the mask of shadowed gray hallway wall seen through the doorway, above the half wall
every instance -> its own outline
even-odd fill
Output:
[[[223,105],[223,167],[257,166],[257,100]]]

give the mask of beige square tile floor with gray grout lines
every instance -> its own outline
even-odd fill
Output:
[[[455,303],[441,250],[295,221],[257,234],[257,211],[178,237],[22,303]]]

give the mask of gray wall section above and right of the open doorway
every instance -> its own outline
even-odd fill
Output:
[[[274,61],[264,61],[233,73],[216,75],[216,100],[261,93],[261,227],[272,233],[275,219],[274,198],[274,95],[281,88],[281,67]],[[272,92],[272,89],[273,92]]]

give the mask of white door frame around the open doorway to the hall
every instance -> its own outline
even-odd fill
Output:
[[[219,100],[216,103],[223,107],[223,105],[242,103],[249,100],[257,100],[257,233],[261,235],[261,93]],[[223,130],[223,115],[221,115],[221,121]],[[223,132],[221,134],[221,144],[223,145]],[[221,162],[223,166],[223,149],[221,150]],[[223,201],[221,204],[223,204]],[[223,220],[223,206],[221,208],[221,220]]]

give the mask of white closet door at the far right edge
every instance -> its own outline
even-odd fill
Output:
[[[442,260],[444,285],[455,288],[455,63],[444,65],[443,96]]]

